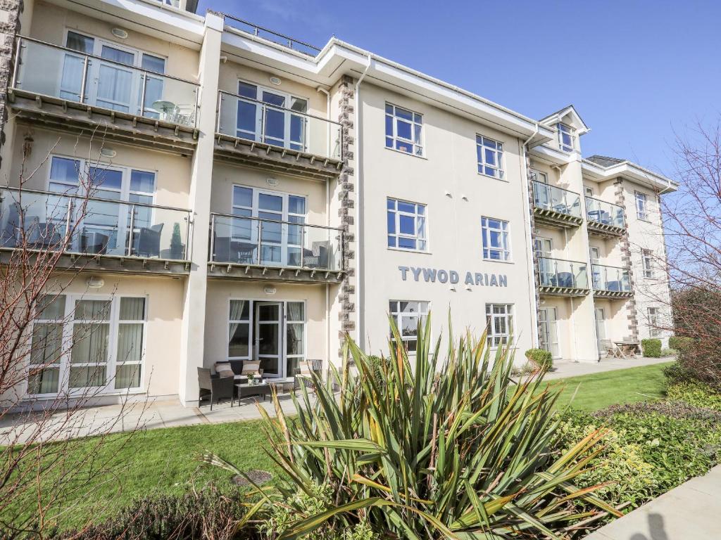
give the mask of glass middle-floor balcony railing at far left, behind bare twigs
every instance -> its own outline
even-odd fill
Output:
[[[0,189],[0,248],[187,261],[190,210]]]

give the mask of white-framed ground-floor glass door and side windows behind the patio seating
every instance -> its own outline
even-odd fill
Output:
[[[306,304],[231,300],[228,359],[257,360],[264,377],[290,377],[306,357]]]

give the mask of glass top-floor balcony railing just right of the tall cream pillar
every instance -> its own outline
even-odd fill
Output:
[[[218,133],[340,160],[340,124],[248,97],[218,92]]]

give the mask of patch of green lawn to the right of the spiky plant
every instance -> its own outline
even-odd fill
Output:
[[[558,407],[598,410],[616,403],[633,403],[665,396],[663,368],[671,362],[652,366],[617,369],[613,372],[568,377],[549,381],[563,387]],[[575,397],[574,397],[575,394]]]

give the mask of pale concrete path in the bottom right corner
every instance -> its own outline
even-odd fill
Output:
[[[721,465],[585,537],[585,540],[719,539]]]

